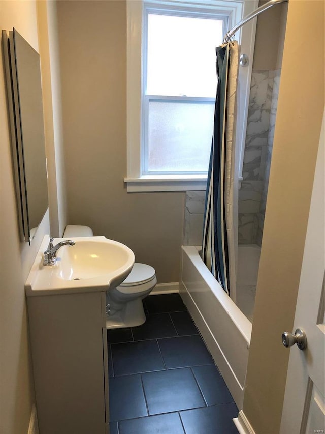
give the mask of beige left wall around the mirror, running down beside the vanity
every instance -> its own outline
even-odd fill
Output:
[[[35,1],[0,1],[0,30],[13,26],[38,49]],[[49,217],[46,213],[31,246],[19,242],[2,56],[0,63],[0,432],[22,434],[35,401],[24,281]]]

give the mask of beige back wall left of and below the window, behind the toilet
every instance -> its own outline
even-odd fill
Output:
[[[57,2],[68,223],[177,282],[184,193],[126,193],[126,2]]]

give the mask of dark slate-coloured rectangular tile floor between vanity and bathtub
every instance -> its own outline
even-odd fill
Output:
[[[111,434],[238,434],[238,409],[179,294],[108,330]]]

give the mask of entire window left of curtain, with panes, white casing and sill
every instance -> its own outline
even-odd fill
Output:
[[[229,0],[128,1],[128,191],[205,189],[215,47],[242,9]]]

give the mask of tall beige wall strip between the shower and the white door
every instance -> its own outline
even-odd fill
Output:
[[[324,109],[324,39],[324,2],[290,0],[243,404],[256,434],[279,432],[289,357],[281,334],[293,329]]]

